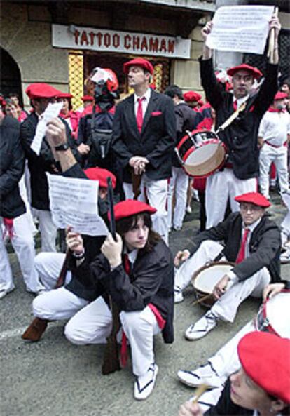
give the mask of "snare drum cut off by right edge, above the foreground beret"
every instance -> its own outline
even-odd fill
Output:
[[[290,338],[290,290],[282,292],[266,300],[261,305],[255,318],[255,328]]]

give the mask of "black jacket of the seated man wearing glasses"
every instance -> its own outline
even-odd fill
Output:
[[[240,250],[242,239],[242,217],[240,213],[231,213],[228,218],[219,222],[216,227],[205,230],[194,240],[195,250],[205,240],[224,241],[223,255],[229,262],[235,262]],[[271,282],[280,281],[280,248],[281,237],[279,228],[268,219],[266,215],[256,226],[249,241],[250,255],[245,260],[233,267],[233,272],[239,281],[251,277],[256,271],[267,267],[270,272]]]

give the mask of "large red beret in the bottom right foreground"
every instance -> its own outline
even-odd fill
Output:
[[[271,396],[290,403],[290,340],[255,331],[240,340],[237,353],[251,380]]]

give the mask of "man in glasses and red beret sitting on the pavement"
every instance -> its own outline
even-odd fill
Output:
[[[205,316],[186,330],[187,340],[204,337],[219,319],[233,322],[243,300],[250,295],[261,297],[265,286],[281,280],[280,232],[275,222],[265,215],[270,202],[258,192],[236,196],[235,201],[240,203],[240,213],[231,213],[216,227],[196,236],[197,248],[192,257],[188,259],[190,253],[184,250],[174,259],[176,266],[181,260],[188,259],[174,276],[176,302],[183,300],[182,290],[205,264],[219,260],[235,263],[216,281],[213,288],[216,302]]]

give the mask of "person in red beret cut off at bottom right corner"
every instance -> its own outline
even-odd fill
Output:
[[[202,412],[198,404],[186,402],[179,416],[289,415],[290,340],[253,332],[237,346],[240,370],[228,378],[216,406]]]

